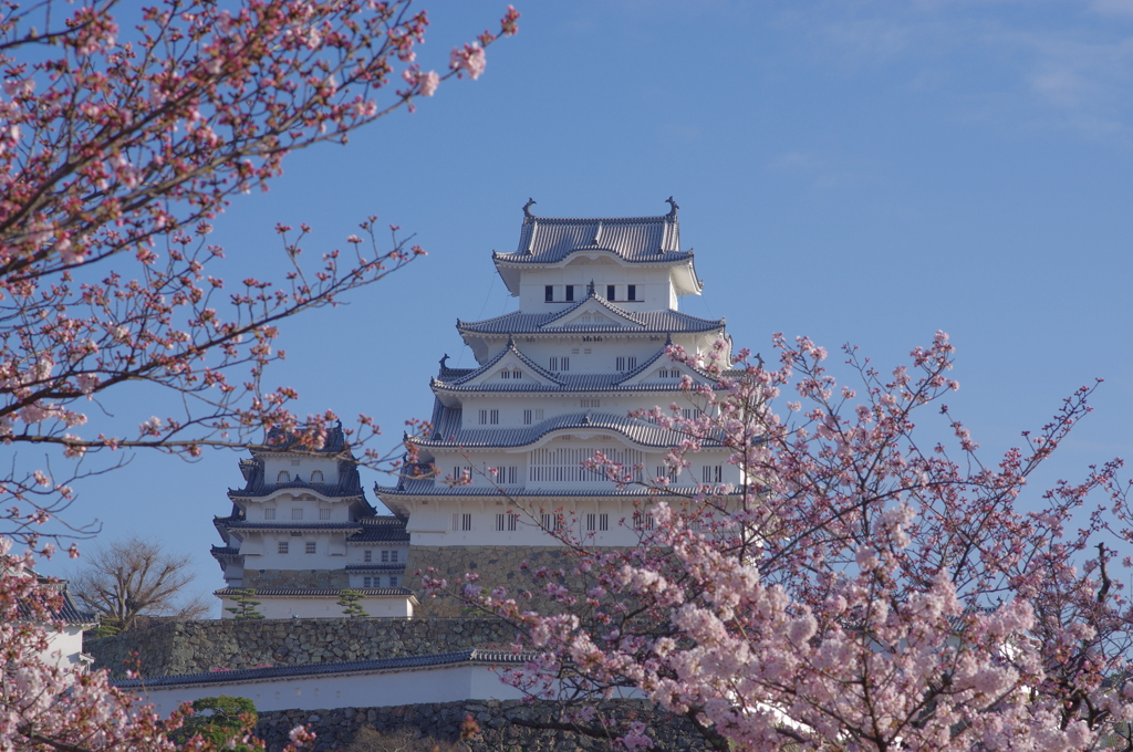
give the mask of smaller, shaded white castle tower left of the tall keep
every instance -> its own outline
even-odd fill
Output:
[[[232,512],[213,519],[224,539],[212,548],[228,586],[214,593],[223,617],[248,588],[269,618],[342,616],[346,588],[361,593],[370,616],[412,616],[416,599],[402,583],[404,522],[375,514],[366,501],[341,424],[318,451],[273,431],[240,471],[244,488],[228,492]]]

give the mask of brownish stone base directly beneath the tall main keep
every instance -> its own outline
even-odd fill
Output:
[[[526,571],[522,569],[523,562],[528,564]],[[454,598],[425,597],[420,576],[416,573],[424,572],[429,566],[436,570],[433,576],[444,578],[450,583],[459,581],[466,573],[475,572],[480,575],[477,584],[486,588],[502,586],[510,593],[519,590],[538,593],[546,582],[536,582],[531,572],[546,567],[569,573],[573,570],[574,562],[570,552],[561,546],[410,546],[406,563],[406,587],[412,590],[420,601],[420,606],[414,612],[415,615],[426,618],[475,615]],[[571,579],[565,578],[566,581]],[[577,582],[573,584],[578,586]],[[527,603],[530,608],[539,613],[561,610],[561,607],[539,597]]]

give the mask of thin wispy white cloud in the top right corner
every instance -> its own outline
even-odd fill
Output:
[[[798,7],[812,54],[841,75],[887,68],[905,89],[952,96],[1020,127],[1133,144],[1133,0],[888,0]]]

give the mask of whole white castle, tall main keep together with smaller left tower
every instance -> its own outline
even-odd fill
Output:
[[[668,202],[661,216],[614,219],[536,216],[528,202],[517,249],[492,257],[518,310],[457,322],[477,366],[441,359],[431,431],[409,438],[416,463],[374,488],[393,515],[375,515],[357,469],[332,459],[341,434],[325,459],[256,451],[241,462],[247,486],[229,494],[232,515],[216,520],[225,546],[213,555],[229,586],[278,599],[272,616],[339,616],[347,586],[363,589],[370,615],[457,615],[453,603],[417,603],[417,571],[518,586],[523,562],[560,557],[556,524],[594,546],[633,545],[651,525],[656,496],[585,468],[596,452],[673,486],[739,485],[722,447],[705,446],[674,473],[665,455],[682,437],[632,417],[674,403],[691,417],[682,378],[715,381],[673,362],[668,344],[707,354],[723,340],[717,357],[731,354],[724,319],[679,309],[704,285]],[[231,588],[216,595],[229,600]]]

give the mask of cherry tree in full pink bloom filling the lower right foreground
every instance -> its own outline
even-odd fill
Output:
[[[1121,462],[1028,487],[1096,385],[988,464],[944,404],[959,384],[943,333],[884,375],[847,347],[855,387],[807,339],[775,348],[773,366],[743,353],[730,368],[672,348],[710,376],[683,382],[700,413],[642,416],[684,436],[673,470],[723,445],[743,484],[641,481],[597,456],[612,482],[650,489],[639,546],[562,524],[547,532],[571,564],[530,572],[534,592],[426,578],[519,627],[535,658],[506,681],[559,701],[552,726],[625,749],[647,729],[597,701],[648,698],[717,750],[1133,749]]]

